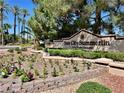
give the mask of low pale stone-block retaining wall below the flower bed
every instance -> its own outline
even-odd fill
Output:
[[[109,72],[108,67],[99,67],[84,73],[74,73],[61,77],[49,78],[45,80],[34,80],[27,83],[7,83],[0,85],[0,93],[40,93],[70,84],[78,83],[88,79],[96,78]]]

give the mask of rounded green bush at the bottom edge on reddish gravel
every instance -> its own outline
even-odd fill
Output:
[[[79,87],[76,93],[112,93],[112,91],[97,82],[86,82]]]

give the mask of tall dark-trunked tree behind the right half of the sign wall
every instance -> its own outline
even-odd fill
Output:
[[[115,32],[114,28],[119,25],[117,20],[119,21],[122,15],[122,6],[124,6],[123,0],[77,0],[68,14],[72,13],[79,16],[73,23],[77,29],[89,29],[95,34],[104,32],[113,34]],[[66,14],[67,16],[64,20],[71,18],[68,17],[68,14]],[[65,21],[63,23],[65,24]],[[67,23],[62,28],[65,29],[69,27],[68,25]],[[71,28],[69,27],[68,29]]]

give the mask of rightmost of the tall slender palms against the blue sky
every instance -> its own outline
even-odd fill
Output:
[[[29,15],[28,11],[26,9],[22,9],[22,15],[23,15],[23,18],[22,18],[22,27],[21,27],[21,33],[23,31],[25,31],[25,24],[26,24],[26,16]],[[25,35],[22,36],[23,38],[25,38]]]

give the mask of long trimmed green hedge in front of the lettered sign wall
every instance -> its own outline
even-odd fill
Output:
[[[48,49],[51,56],[63,57],[83,57],[89,59],[110,58],[114,61],[124,61],[123,52],[105,52],[105,51],[84,51],[81,49]]]

